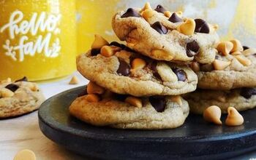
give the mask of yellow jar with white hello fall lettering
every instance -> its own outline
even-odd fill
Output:
[[[0,0],[0,80],[75,71],[75,0]]]

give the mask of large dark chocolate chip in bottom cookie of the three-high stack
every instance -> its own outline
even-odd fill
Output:
[[[165,111],[165,97],[154,96],[148,97],[149,103],[154,107],[157,112]]]

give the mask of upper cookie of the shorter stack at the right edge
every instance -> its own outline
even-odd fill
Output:
[[[222,42],[219,45],[227,42],[230,41]],[[225,44],[226,49],[227,44]],[[213,63],[194,68],[194,71],[198,70],[197,87],[222,90],[256,87],[256,49],[240,48],[239,51],[230,51],[233,49],[232,46],[226,51],[219,49]]]

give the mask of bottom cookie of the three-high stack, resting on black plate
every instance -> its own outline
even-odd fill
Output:
[[[72,116],[95,126],[121,129],[170,129],[184,124],[189,105],[181,96],[133,97],[102,89],[93,82],[69,106]],[[88,95],[87,95],[88,94]]]

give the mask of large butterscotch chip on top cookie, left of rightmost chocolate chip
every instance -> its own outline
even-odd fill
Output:
[[[187,36],[192,36],[195,32],[195,20],[188,18],[184,23],[178,25],[177,30]]]

